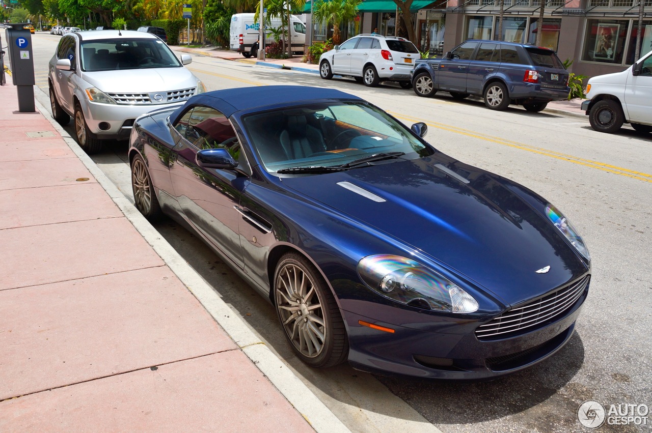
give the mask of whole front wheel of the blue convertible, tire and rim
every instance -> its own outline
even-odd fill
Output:
[[[291,346],[311,367],[346,361],[349,342],[340,309],[316,268],[297,253],[281,257],[274,272],[274,305]]]

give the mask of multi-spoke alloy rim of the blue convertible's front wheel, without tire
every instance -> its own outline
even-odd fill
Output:
[[[301,266],[288,262],[278,272],[275,290],[278,314],[289,340],[303,356],[319,356],[329,331],[315,282]]]

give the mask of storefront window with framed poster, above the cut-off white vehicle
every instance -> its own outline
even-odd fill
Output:
[[[629,20],[587,20],[582,60],[623,63]]]

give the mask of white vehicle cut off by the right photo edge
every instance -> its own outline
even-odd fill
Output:
[[[638,132],[652,132],[652,51],[627,70],[589,79],[588,100],[582,110],[599,132],[616,132],[629,124]]]

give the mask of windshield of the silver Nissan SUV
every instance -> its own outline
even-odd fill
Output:
[[[170,48],[158,38],[82,42],[82,70],[85,72],[180,66]]]

